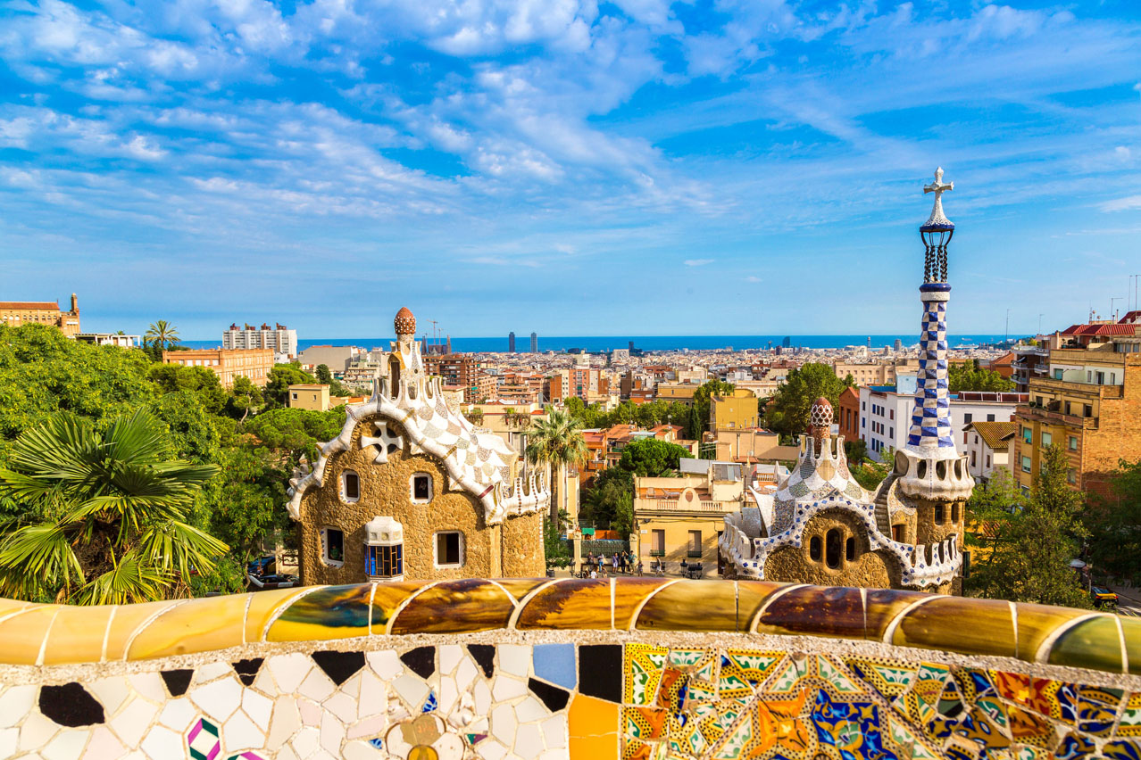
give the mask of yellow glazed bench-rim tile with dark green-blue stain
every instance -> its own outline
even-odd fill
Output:
[[[269,624],[267,641],[323,641],[369,635],[371,583],[325,586],[292,602]]]

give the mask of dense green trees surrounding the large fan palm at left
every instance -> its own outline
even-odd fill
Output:
[[[155,342],[173,340],[170,325],[156,327],[165,338],[156,336]],[[300,371],[284,369],[290,376]],[[284,401],[284,394],[280,398]],[[300,409],[257,414],[265,403],[261,390],[245,378],[227,391],[207,368],[155,363],[144,350],[80,343],[39,325],[0,326],[0,468],[19,472],[17,440],[57,418],[89,431],[84,435],[99,436],[110,434],[116,419],[140,412],[161,432],[156,446],[164,461],[209,468],[211,474],[177,505],[179,520],[229,548],[215,547],[217,556],[195,563],[188,586],[181,578],[159,583],[162,595],[240,590],[246,559],[264,546],[292,541],[284,508],[292,467],[301,456],[315,455],[317,441],[337,435],[345,415]],[[78,523],[66,515],[81,504],[74,496],[49,509],[44,498],[6,489],[0,492],[0,518],[17,525],[47,518],[73,525]],[[129,537],[128,544],[137,546]],[[89,569],[84,570],[89,580],[91,573],[102,573],[96,565]],[[56,575],[56,586],[44,583],[40,593],[64,590],[73,600],[94,598],[90,589],[79,593],[83,585],[76,586],[76,579]]]

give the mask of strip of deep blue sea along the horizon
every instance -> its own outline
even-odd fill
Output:
[[[872,349],[880,350],[884,346],[895,345],[896,340],[903,342],[904,348],[914,346],[919,343],[919,334],[908,333],[900,335],[791,335],[788,342],[792,348],[806,349],[843,349],[849,345],[867,345],[868,337],[872,341]],[[568,351],[581,349],[583,351],[613,351],[614,349],[629,348],[632,341],[636,349],[645,351],[711,351],[718,349],[733,348],[741,351],[743,349],[767,349],[770,345],[782,345],[784,335],[630,335],[630,336],[598,336],[598,335],[570,335],[570,336],[539,336],[539,350],[545,351]],[[1002,343],[1003,335],[949,335],[947,344],[950,348],[981,346]],[[311,345],[358,345],[363,349],[385,349],[395,337],[348,337],[348,338],[314,338],[298,340],[298,346],[305,351]],[[183,341],[184,345],[192,349],[217,348],[221,341]],[[452,350],[461,352],[488,352],[507,351],[507,336],[496,337],[453,337]],[[525,353],[531,348],[529,335],[517,335],[515,348],[519,353]]]

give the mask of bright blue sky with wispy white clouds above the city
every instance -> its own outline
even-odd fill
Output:
[[[939,164],[953,333],[1141,273],[1134,0],[5,0],[0,59],[0,300],[86,329],[917,329]]]

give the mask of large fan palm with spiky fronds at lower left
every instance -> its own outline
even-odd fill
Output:
[[[217,467],[173,459],[145,411],[102,432],[58,415],[16,440],[9,465],[0,496],[25,517],[0,530],[0,596],[75,604],[180,596],[192,572],[211,572],[228,550],[185,522]]]

